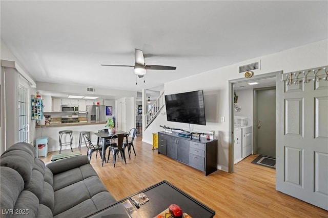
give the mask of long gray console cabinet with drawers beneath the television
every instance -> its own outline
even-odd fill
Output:
[[[194,140],[178,136],[178,133],[158,132],[158,154],[171,157],[205,175],[217,171],[217,140]]]

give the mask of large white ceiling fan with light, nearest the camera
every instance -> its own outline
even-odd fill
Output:
[[[146,74],[147,69],[164,69],[164,70],[172,70],[176,69],[175,66],[162,66],[162,65],[147,65],[145,63],[145,56],[144,53],[139,50],[134,50],[134,58],[135,63],[134,66],[132,65],[114,65],[114,64],[100,64],[101,66],[127,66],[127,67],[134,67],[134,73],[138,75],[139,78],[144,77]]]

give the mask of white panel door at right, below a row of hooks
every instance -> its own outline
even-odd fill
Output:
[[[328,81],[317,70],[319,81],[312,69],[307,83],[277,78],[276,189],[328,210]]]

